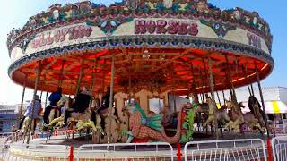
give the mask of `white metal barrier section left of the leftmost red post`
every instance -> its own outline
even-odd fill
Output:
[[[68,148],[63,145],[10,144],[9,150],[0,154],[4,161],[66,160]]]

